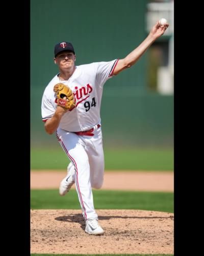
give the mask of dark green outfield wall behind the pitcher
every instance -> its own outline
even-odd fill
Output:
[[[31,146],[55,146],[41,98],[58,72],[54,45],[72,42],[76,65],[123,58],[146,37],[146,0],[31,0]],[[105,147],[173,146],[173,96],[147,90],[147,52],[108,80],[101,119]]]

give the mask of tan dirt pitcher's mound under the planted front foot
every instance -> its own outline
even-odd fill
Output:
[[[96,210],[105,233],[87,234],[81,210],[31,210],[31,253],[173,254],[173,214]]]

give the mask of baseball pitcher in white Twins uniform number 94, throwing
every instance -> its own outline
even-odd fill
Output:
[[[54,62],[59,73],[48,83],[42,97],[42,121],[48,134],[56,133],[71,161],[61,181],[59,194],[64,196],[75,183],[85,232],[103,234],[94,209],[92,188],[104,180],[104,152],[100,123],[100,104],[105,82],[133,66],[147,48],[168,28],[159,22],[149,35],[123,59],[75,66],[76,55],[70,42],[55,46]]]

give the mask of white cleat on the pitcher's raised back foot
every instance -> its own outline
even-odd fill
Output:
[[[67,167],[67,176],[60,183],[60,188],[59,188],[60,196],[64,196],[65,194],[67,194],[71,186],[74,184],[74,180],[73,180],[74,173],[75,173],[74,165],[72,164],[72,162],[70,162]]]

